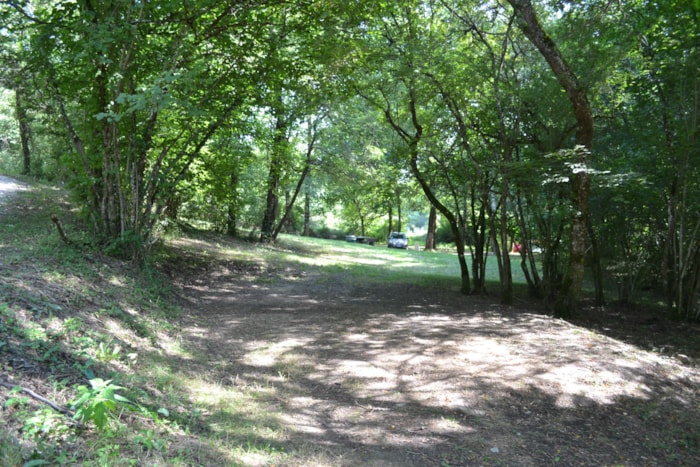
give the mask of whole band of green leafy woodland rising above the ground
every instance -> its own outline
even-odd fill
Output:
[[[0,170],[65,183],[102,248],[136,261],[181,221],[386,238],[432,209],[464,293],[484,291],[488,259],[506,304],[520,267],[570,312],[585,272],[598,302],[645,289],[698,319],[699,13],[4,1]]]

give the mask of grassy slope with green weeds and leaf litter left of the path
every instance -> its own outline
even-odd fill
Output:
[[[53,214],[80,246],[61,241]],[[169,323],[177,308],[167,299],[167,283],[101,256],[84,244],[83,227],[65,193],[51,186],[32,184],[2,202],[0,465],[139,463],[157,458],[165,446],[157,442],[161,436],[185,428],[157,412],[164,397],[159,378],[167,373],[163,353],[176,347]],[[97,430],[89,419],[78,426],[28,392],[7,387],[68,407],[91,378],[124,386],[119,392],[139,407],[118,407]]]

